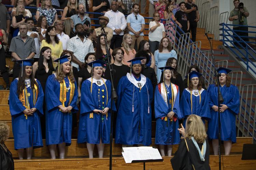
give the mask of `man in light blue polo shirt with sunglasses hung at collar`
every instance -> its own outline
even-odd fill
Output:
[[[139,14],[139,4],[134,3],[132,5],[133,12],[127,16],[127,28],[129,34],[132,37],[131,48],[134,48],[135,42],[137,41],[137,48],[139,47],[140,41],[144,39],[143,31],[145,29],[145,19]]]

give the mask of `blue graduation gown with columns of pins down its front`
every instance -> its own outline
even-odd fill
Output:
[[[93,143],[99,144],[100,139],[102,143],[110,143],[110,123],[111,113],[110,109],[115,111],[115,103],[111,107],[111,83],[109,80],[103,79],[97,85],[97,80],[93,79],[92,93],[91,78],[85,80],[81,87],[81,102],[80,102],[80,119],[79,130],[77,136],[78,143]],[[108,103],[107,103],[107,91],[108,90]],[[94,109],[103,110],[105,107],[110,108],[108,117],[103,114],[94,113]],[[93,118],[90,118],[90,113],[93,113]]]

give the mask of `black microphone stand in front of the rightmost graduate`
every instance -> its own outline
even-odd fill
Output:
[[[210,32],[210,31],[208,31]],[[207,33],[208,33],[207,32]],[[221,170],[221,113],[220,113],[220,108],[221,108],[221,103],[224,101],[222,94],[221,94],[221,90],[219,89],[219,76],[217,74],[217,70],[215,67],[215,59],[214,59],[214,55],[213,55],[213,42],[211,43],[211,39],[213,40],[212,37],[208,37],[208,34],[205,33],[204,35],[207,37],[207,39],[209,40],[210,43],[210,47],[211,47],[211,52],[212,52],[212,63],[214,65],[214,75],[216,78],[216,82],[217,82],[217,86],[218,86],[218,139],[219,139],[219,170]],[[211,32],[210,32],[211,33]],[[211,70],[210,70],[211,71]]]

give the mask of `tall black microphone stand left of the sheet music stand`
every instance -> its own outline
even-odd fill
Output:
[[[111,100],[111,107],[113,107],[113,101],[117,100],[117,94],[116,94],[116,90],[114,88],[114,84],[113,84],[113,75],[114,75],[114,70],[113,70],[113,66],[111,64],[111,55],[110,55],[110,50],[108,48],[108,41],[106,38],[106,33],[103,27],[101,27],[101,32],[104,36],[104,40],[105,40],[105,49],[106,49],[106,54],[107,54],[107,58],[108,58],[108,66],[109,66],[109,71],[110,71],[110,81],[111,81],[111,86],[112,86],[112,100]],[[99,42],[98,42],[99,43]],[[113,142],[113,108],[111,108],[111,119],[110,119],[110,151],[109,151],[109,169],[112,170],[112,142]]]

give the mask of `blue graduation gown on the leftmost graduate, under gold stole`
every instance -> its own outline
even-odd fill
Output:
[[[12,115],[15,150],[32,146],[33,148],[43,147],[40,116],[43,115],[44,92],[40,82],[38,80],[36,81],[38,83],[38,97],[35,105],[33,104],[33,90],[30,88],[31,86],[27,88],[27,91],[30,93],[30,96],[28,97],[30,108],[36,108],[37,111],[31,116],[27,116],[27,119],[23,113],[26,108],[19,100],[17,94],[18,78],[12,82],[10,87],[9,104]]]

